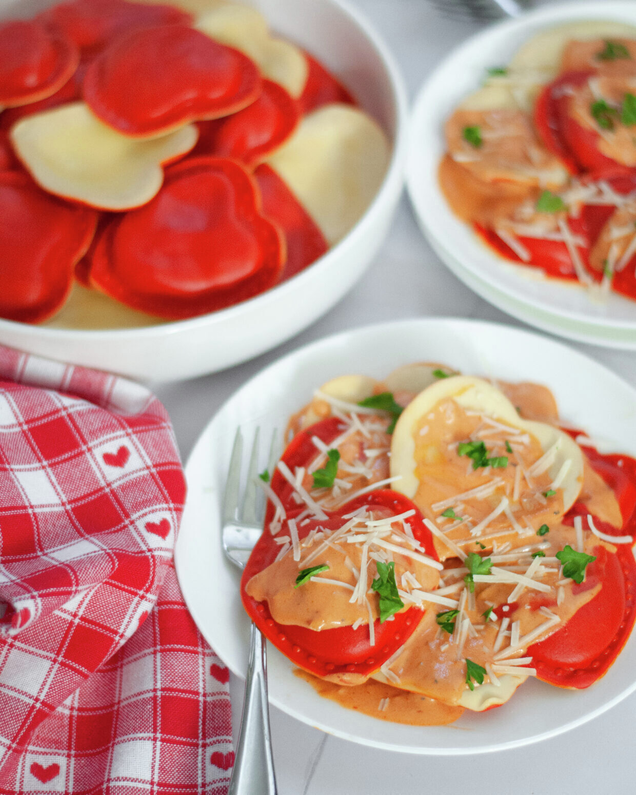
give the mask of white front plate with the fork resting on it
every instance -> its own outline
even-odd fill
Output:
[[[238,595],[239,572],[223,557],[219,502],[237,426],[248,440],[260,426],[267,439],[329,378],[346,373],[382,378],[398,365],[422,360],[465,373],[546,384],[565,420],[636,455],[636,391],[610,370],[541,335],[471,320],[403,320],[343,332],[294,351],[223,405],[186,466],[189,491],[176,571],[197,625],[234,673],[245,675],[250,621]],[[501,709],[466,712],[451,726],[410,727],[320,698],[293,675],[286,657],[268,649],[272,704],[343,739],[413,754],[474,754],[534,743],[584,723],[636,689],[634,636],[607,676],[588,690],[527,681]]]

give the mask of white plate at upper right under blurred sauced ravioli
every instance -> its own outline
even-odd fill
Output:
[[[603,0],[550,4],[494,25],[456,48],[427,78],[417,95],[411,119],[407,182],[422,230],[444,262],[447,254],[466,273],[486,281],[510,298],[506,312],[517,315],[516,306],[522,304],[526,312],[524,320],[535,323],[533,312],[542,313],[539,317],[543,323],[536,324],[555,334],[581,339],[576,332],[568,334],[565,329],[579,327],[581,334],[592,336],[598,330],[598,339],[586,341],[611,347],[612,335],[605,333],[609,329],[620,332],[628,340],[617,347],[636,348],[636,301],[611,293],[607,302],[601,303],[579,285],[547,279],[537,269],[507,262],[453,214],[437,179],[445,150],[444,122],[461,100],[479,87],[487,68],[508,63],[525,41],[542,30],[586,19],[636,24],[636,3]],[[487,301],[491,298],[487,297]],[[560,319],[568,322],[561,325]]]

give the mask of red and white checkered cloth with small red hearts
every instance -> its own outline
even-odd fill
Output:
[[[227,793],[229,675],[176,581],[165,409],[3,347],[0,379],[0,793]]]

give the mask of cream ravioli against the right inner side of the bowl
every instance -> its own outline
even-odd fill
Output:
[[[358,108],[333,104],[305,116],[268,163],[333,245],[373,201],[389,157],[377,122]]]

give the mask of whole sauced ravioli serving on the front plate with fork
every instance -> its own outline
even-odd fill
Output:
[[[636,618],[636,460],[597,452],[545,386],[342,376],[287,441],[242,602],[320,695],[439,725],[610,668]]]

